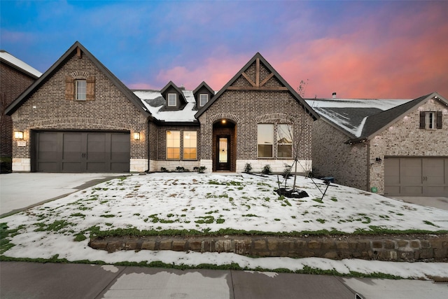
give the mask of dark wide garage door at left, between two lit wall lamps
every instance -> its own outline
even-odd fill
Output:
[[[34,132],[36,172],[129,172],[129,132]]]

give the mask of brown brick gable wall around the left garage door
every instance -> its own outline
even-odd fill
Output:
[[[65,99],[66,76],[76,71],[94,76],[94,100]],[[131,159],[148,159],[148,134],[145,133],[148,132],[148,120],[86,55],[79,58],[73,53],[73,56],[13,113],[13,130],[24,132],[23,140],[26,142],[26,146],[18,146],[13,142],[13,170],[31,170],[20,166],[20,163],[30,160],[31,130],[37,129],[126,130],[130,132]],[[132,138],[134,132],[140,132],[140,140]],[[147,167],[131,171],[146,169]]]

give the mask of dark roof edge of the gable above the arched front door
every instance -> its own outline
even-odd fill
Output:
[[[205,104],[200,111],[197,111],[195,117],[199,118],[202,113],[204,113],[205,111],[207,111],[207,109],[209,108],[209,106],[211,106],[214,102],[216,102],[216,100],[221,97],[221,95],[223,94],[223,92],[225,92],[225,90],[228,90],[228,88],[235,83],[235,81],[237,81],[237,79],[240,76],[244,76],[244,71],[246,71],[246,69],[248,69],[248,67],[251,67],[251,65],[253,63],[255,63],[257,60],[259,60],[260,63],[262,63],[267,70],[272,74],[273,77],[275,77],[285,88],[286,90],[288,90],[288,92],[290,92],[290,94],[296,99],[296,101],[305,109],[305,111],[307,111],[307,113],[314,118],[314,120],[318,119],[319,116],[316,113],[316,111],[314,111],[308,104],[307,102],[304,101],[304,99],[302,99],[302,97],[300,97],[300,95],[293,89],[290,87],[290,85],[288,84],[288,82],[285,81],[285,79],[283,79],[283,77],[280,76],[279,73],[277,73],[277,71],[269,64],[269,62],[267,62],[267,60],[265,60],[264,57],[262,57],[262,55],[260,53],[256,53],[251,60],[249,60],[244,67],[242,67],[237,74],[235,74],[235,76],[233,76],[233,78],[230,79],[230,81],[224,85],[223,88],[221,88],[221,90],[219,90],[216,95],[214,97],[212,97],[210,99],[209,102],[207,102],[207,104]],[[264,90],[265,88],[263,88],[262,86],[258,87],[259,90]]]

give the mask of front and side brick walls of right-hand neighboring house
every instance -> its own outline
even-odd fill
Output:
[[[420,129],[420,111],[442,111],[442,129]],[[318,120],[313,127],[316,176],[334,176],[335,183],[384,194],[385,157],[448,157],[448,106],[428,99],[405,116],[358,144],[342,131]],[[377,158],[379,158],[377,160]]]

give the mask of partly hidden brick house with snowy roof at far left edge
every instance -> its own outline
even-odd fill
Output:
[[[6,107],[42,74],[25,62],[0,50],[0,161],[1,172],[11,169],[13,121]]]

